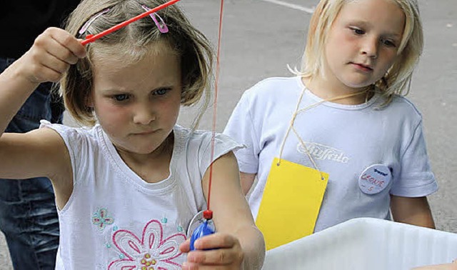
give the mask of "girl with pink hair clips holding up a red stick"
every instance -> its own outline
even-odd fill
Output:
[[[170,6],[81,45],[160,4],[82,1],[66,31],[47,29],[0,75],[2,132],[39,83],[60,79],[69,113],[92,125],[43,121],[36,131],[0,137],[1,178],[52,181],[61,226],[57,269],[260,269],[263,262],[263,238],[232,153],[239,145],[216,135],[211,160],[211,133],[176,124],[180,106],[209,91],[204,35]],[[210,164],[218,232],[189,253],[186,230],[206,208]]]

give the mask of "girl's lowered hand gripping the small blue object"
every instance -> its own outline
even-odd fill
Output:
[[[231,234],[204,236],[196,240],[194,246],[197,250],[190,251],[190,239],[179,246],[181,252],[188,253],[183,269],[241,269],[243,249]]]

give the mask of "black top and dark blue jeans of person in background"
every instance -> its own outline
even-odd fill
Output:
[[[78,4],[79,0],[0,0],[0,73],[28,51],[46,28],[62,28]],[[40,84],[5,132],[37,129],[41,119],[61,123],[64,106],[51,88],[51,83]],[[55,269],[59,219],[51,181],[0,179],[0,230],[14,269]]]

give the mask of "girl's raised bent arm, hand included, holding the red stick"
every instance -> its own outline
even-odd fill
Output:
[[[41,82],[59,81],[69,65],[85,54],[84,46],[71,34],[50,28],[0,74],[0,178],[48,176],[57,188],[56,195],[62,185],[71,186],[56,185],[54,181],[71,176],[69,154],[56,131],[39,129],[27,134],[4,134],[4,131]]]

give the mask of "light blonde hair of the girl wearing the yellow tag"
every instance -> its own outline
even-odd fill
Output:
[[[319,2],[309,24],[301,70],[295,71],[296,74],[312,78],[321,72],[325,59],[326,35],[339,11],[348,1],[353,0],[321,0]],[[393,1],[398,4],[406,17],[401,44],[398,46],[398,59],[388,69],[386,76],[375,83],[382,94],[386,96],[386,104],[388,104],[391,102],[393,94],[408,94],[413,70],[423,50],[423,29],[416,0],[386,1]]]

